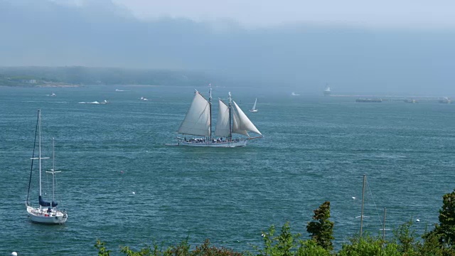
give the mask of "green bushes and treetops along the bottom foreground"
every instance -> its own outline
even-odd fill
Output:
[[[258,256],[455,256],[455,190],[443,197],[443,206],[439,210],[439,224],[434,230],[422,235],[419,239],[412,229],[413,222],[400,225],[394,230],[394,238],[384,240],[379,236],[365,234],[361,238],[350,238],[338,252],[332,251],[332,228],[330,203],[323,203],[314,210],[314,221],[308,223],[307,231],[311,239],[301,240],[301,234],[291,233],[289,223],[282,226],[281,233],[276,234],[274,225],[263,233],[262,247],[253,247]],[[322,234],[322,235],[321,235]],[[97,240],[95,247],[99,256],[109,256],[110,250],[105,242]],[[193,250],[188,238],[178,245],[161,249],[158,245],[145,246],[138,251],[130,247],[121,247],[120,252],[128,256],[237,256],[255,255],[252,252],[235,252],[225,247],[210,245],[205,240]]]

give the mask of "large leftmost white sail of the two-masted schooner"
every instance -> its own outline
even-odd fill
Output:
[[[185,119],[178,128],[178,133],[210,136],[210,104],[197,91]]]

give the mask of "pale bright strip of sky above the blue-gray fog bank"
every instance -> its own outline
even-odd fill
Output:
[[[455,28],[455,1],[440,0],[114,0],[141,18],[232,19],[245,26],[282,23],[384,28]]]

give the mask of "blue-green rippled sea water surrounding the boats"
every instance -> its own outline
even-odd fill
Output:
[[[254,251],[270,225],[289,221],[306,235],[324,201],[341,247],[360,227],[363,174],[364,230],[380,232],[384,207],[387,228],[419,218],[422,232],[437,222],[441,196],[454,189],[455,105],[229,90],[245,111],[258,98],[259,112],[247,115],[265,137],[244,148],[165,146],[175,142],[193,88],[0,87],[0,254],[95,255],[97,239],[118,252],[187,237],[192,245],[208,238]],[[102,100],[110,103],[79,103]],[[47,156],[55,137],[65,225],[34,224],[26,215],[38,108]],[[43,181],[50,188],[50,177]]]

